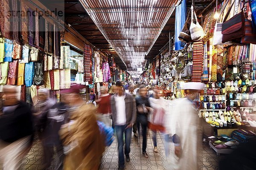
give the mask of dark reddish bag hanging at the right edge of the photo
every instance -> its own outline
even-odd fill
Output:
[[[256,44],[256,33],[253,32],[253,24],[251,20],[248,20],[247,11],[250,6],[247,3],[246,11],[244,11],[244,37],[241,38],[242,44]]]

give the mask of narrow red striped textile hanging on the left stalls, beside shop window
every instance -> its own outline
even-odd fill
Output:
[[[91,65],[92,49],[90,45],[84,44],[84,81],[92,83]]]

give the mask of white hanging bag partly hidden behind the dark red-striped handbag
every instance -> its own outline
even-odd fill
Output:
[[[223,14],[227,4],[228,4],[229,1],[227,1],[223,8],[221,9],[221,13],[220,13],[220,16],[221,14]],[[221,17],[219,17],[221,18]],[[220,21],[221,19],[217,20],[216,21],[216,24],[215,24],[215,27],[214,27],[214,32],[213,32],[213,40],[212,40],[212,44],[213,45],[230,45],[231,43],[230,42],[225,42],[225,43],[222,43],[222,34],[221,34],[221,30],[222,30],[222,22]]]

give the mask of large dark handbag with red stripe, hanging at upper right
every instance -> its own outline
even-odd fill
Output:
[[[234,5],[235,1],[230,6],[227,14],[222,23],[222,43],[234,40],[236,42],[241,41],[241,37],[244,37],[244,14],[239,12],[234,15],[232,18],[227,20],[228,15],[230,14],[231,8]],[[227,20],[227,21],[226,21]]]

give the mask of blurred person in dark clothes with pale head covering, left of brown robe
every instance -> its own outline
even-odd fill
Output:
[[[49,135],[51,133],[50,122],[48,121],[48,111],[55,104],[55,101],[49,98],[49,90],[41,88],[38,90],[38,104],[35,106],[35,126],[38,137],[42,142],[44,149],[43,168],[47,169],[51,165],[52,147],[49,144]]]

